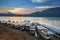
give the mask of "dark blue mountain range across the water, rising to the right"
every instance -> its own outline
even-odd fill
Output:
[[[60,17],[60,7],[56,8],[49,8],[46,10],[43,10],[42,12],[34,12],[32,14],[13,14],[11,12],[8,12],[7,14],[0,13],[0,16],[23,16],[23,17]]]

